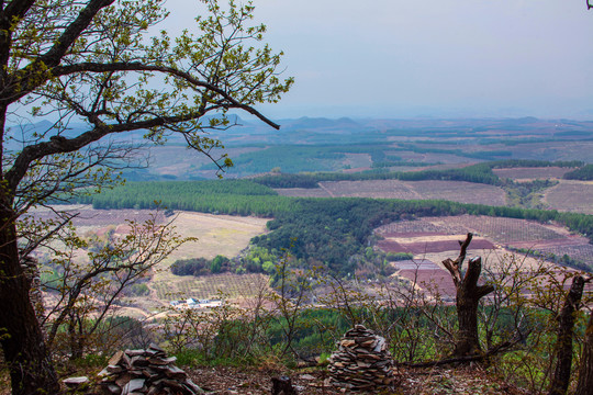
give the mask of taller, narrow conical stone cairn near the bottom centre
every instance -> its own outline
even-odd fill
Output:
[[[349,391],[372,391],[393,385],[393,359],[385,339],[356,325],[329,358],[332,384]]]

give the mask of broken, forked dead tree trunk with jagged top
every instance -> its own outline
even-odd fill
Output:
[[[468,269],[462,276],[461,270],[466,252],[473,235],[468,234],[463,242],[459,241],[460,252],[456,260],[447,258],[443,264],[451,274],[457,291],[457,319],[459,331],[455,342],[454,354],[465,357],[481,353],[478,337],[478,305],[482,297],[494,291],[492,285],[478,285],[482,272],[482,259],[470,259]]]

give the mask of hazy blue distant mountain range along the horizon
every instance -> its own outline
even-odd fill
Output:
[[[204,116],[203,124],[208,125],[212,116]],[[572,120],[540,120],[532,116],[519,119],[409,119],[409,120],[378,120],[349,117],[326,119],[326,117],[300,117],[277,120],[281,128],[276,131],[269,125],[257,119],[245,120],[239,115],[228,115],[231,125],[234,126],[225,131],[209,131],[211,137],[217,137],[226,145],[244,144],[323,144],[325,139],[328,143],[337,143],[332,135],[353,135],[367,133],[390,133],[399,132],[417,134],[418,131],[456,131],[456,132],[492,132],[492,131],[534,131],[538,135],[553,133],[578,133],[593,131],[591,121]],[[43,120],[38,123],[29,125],[11,125],[15,140],[9,142],[10,149],[18,149],[23,137],[32,138],[34,134],[45,134],[49,138],[57,133],[54,131],[54,124]],[[82,123],[70,124],[61,133],[65,137],[76,136],[88,128]],[[135,131],[119,135],[119,139],[142,140],[145,131]],[[322,137],[323,136],[323,137]],[[183,144],[181,136],[172,134],[169,143]]]

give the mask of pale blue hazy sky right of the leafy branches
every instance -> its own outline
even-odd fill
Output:
[[[168,2],[178,10],[188,3]],[[585,1],[254,4],[267,42],[286,53],[286,76],[296,80],[279,104],[260,108],[272,117],[593,120],[593,10]],[[188,14],[172,20],[182,25]]]

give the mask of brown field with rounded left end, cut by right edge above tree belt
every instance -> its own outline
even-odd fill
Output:
[[[550,208],[593,214],[593,181],[562,180],[544,195]]]

